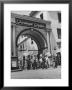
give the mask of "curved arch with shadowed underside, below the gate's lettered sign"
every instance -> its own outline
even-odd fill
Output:
[[[47,40],[43,36],[43,34],[36,29],[28,28],[25,30],[22,30],[16,37],[16,48],[18,47],[18,38],[20,35],[25,35],[30,37],[32,40],[34,40],[38,46],[38,54],[43,53],[43,51],[48,48],[47,46]]]

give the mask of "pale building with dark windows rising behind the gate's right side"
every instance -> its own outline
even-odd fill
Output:
[[[51,29],[56,41],[56,49],[61,50],[61,12],[60,11],[32,11],[31,17],[51,22]]]

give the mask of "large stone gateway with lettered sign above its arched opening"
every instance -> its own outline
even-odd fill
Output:
[[[53,54],[54,48],[57,47],[51,21],[11,13],[11,62],[13,64],[16,61],[16,67],[18,67],[18,40],[20,36],[26,36],[35,41],[38,54],[45,52]],[[24,43],[20,44],[20,48],[24,48]]]

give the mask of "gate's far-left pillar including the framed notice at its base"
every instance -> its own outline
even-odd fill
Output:
[[[18,57],[16,48],[16,26],[11,26],[11,70],[18,68]]]

